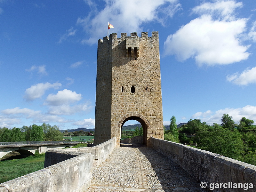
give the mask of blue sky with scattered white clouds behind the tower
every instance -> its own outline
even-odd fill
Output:
[[[159,31],[165,125],[256,122],[254,0],[0,0],[0,127],[94,128],[108,21],[118,37]]]

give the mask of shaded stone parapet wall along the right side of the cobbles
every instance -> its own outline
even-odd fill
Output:
[[[252,183],[256,187],[256,166],[221,156],[209,151],[196,149],[171,141],[150,138],[151,148],[179,164],[198,181],[210,183]],[[243,188],[215,189],[214,191],[245,191]]]

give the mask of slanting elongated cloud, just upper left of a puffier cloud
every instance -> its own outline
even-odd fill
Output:
[[[44,92],[47,89],[50,89],[50,88],[58,89],[60,86],[61,84],[57,82],[54,84],[50,84],[47,82],[47,83],[38,83],[36,85],[32,85],[31,87],[26,89],[24,99],[26,101],[35,100],[37,98],[42,97],[44,95]]]

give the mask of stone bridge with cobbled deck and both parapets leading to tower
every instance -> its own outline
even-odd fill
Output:
[[[154,137],[150,147],[131,144],[141,136],[122,142],[48,150],[44,169],[1,183],[0,192],[255,191],[251,164]]]

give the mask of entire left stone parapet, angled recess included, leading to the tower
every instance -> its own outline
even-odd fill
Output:
[[[99,166],[115,147],[116,137],[95,147],[46,151],[44,169],[1,183],[0,192],[85,191],[91,184],[93,164]]]

